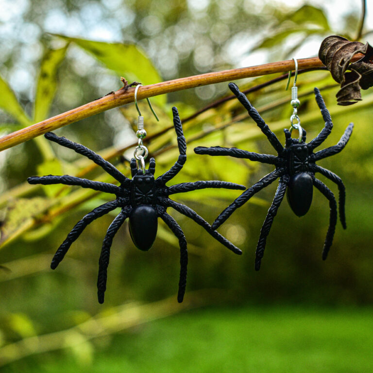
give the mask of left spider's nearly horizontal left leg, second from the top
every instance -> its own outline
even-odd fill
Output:
[[[120,188],[114,184],[102,183],[101,181],[92,181],[88,179],[81,179],[80,177],[63,175],[48,175],[48,176],[31,176],[27,179],[29,184],[64,184],[64,185],[78,185],[84,188],[98,190],[105,193],[119,194]]]

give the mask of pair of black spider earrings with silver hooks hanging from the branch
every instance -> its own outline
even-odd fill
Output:
[[[131,160],[132,179],[129,179],[128,177],[123,175],[115,166],[113,166],[111,163],[104,160],[99,154],[94,153],[92,150],[86,148],[85,146],[74,143],[66,139],[65,137],[58,137],[53,133],[45,134],[45,137],[47,139],[54,141],[61,146],[72,149],[76,153],[80,153],[91,159],[119,182],[119,186],[117,186],[114,184],[91,181],[68,175],[48,175],[42,177],[32,176],[28,178],[28,182],[30,184],[65,184],[70,186],[82,186],[101,192],[111,193],[116,196],[113,201],[104,203],[101,206],[95,208],[87,215],[85,215],[82,220],[78,221],[78,223],[75,224],[65,241],[60,245],[56,254],[54,255],[51,262],[51,268],[55,269],[58,266],[58,264],[64,258],[65,254],[68,252],[71,244],[80,236],[80,234],[83,232],[88,224],[90,224],[93,220],[120,207],[121,211],[110,224],[102,243],[97,281],[99,302],[103,303],[104,301],[104,292],[106,290],[107,280],[107,267],[109,264],[110,248],[113,242],[113,237],[118,232],[124,220],[126,220],[127,218],[129,218],[129,230],[131,238],[136,247],[140,250],[148,251],[153,245],[157,233],[158,218],[161,218],[170,228],[172,233],[178,238],[180,246],[180,278],[177,300],[178,302],[182,302],[186,289],[186,270],[188,260],[186,237],[177,221],[174,220],[167,213],[167,208],[171,207],[179,213],[185,215],[186,217],[194,220],[197,224],[201,225],[207,231],[207,233],[217,239],[229,250],[233,251],[235,254],[242,254],[240,249],[238,249],[226,238],[216,232],[216,229],[225,220],[227,220],[238,207],[246,203],[255,193],[257,193],[264,187],[269,186],[278,178],[280,179],[279,184],[260,232],[260,237],[256,248],[255,269],[259,270],[260,268],[261,259],[263,257],[266,245],[266,239],[270,232],[271,225],[277,213],[278,207],[280,206],[285,196],[285,192],[288,190],[288,202],[294,213],[298,216],[303,216],[308,211],[312,202],[313,186],[319,189],[321,193],[329,200],[329,227],[322,251],[322,259],[326,259],[333,241],[335,226],[337,223],[337,203],[332,191],[315,177],[315,173],[321,173],[323,176],[338,185],[339,218],[343,228],[346,228],[344,214],[345,187],[339,176],[329,170],[323,169],[322,167],[316,165],[316,161],[339,153],[345,147],[347,141],[350,138],[353,124],[350,123],[337,145],[331,146],[316,153],[313,152],[314,149],[321,145],[326,137],[330,134],[333,123],[331,121],[330,114],[322,100],[320,91],[315,88],[314,91],[316,102],[321,110],[322,118],[325,122],[325,125],[318,136],[316,136],[309,143],[305,142],[306,133],[305,130],[302,129],[300,125],[300,119],[297,116],[297,107],[299,105],[299,101],[297,100],[296,95],[297,87],[295,85],[297,75],[297,62],[296,60],[294,60],[294,62],[296,65],[296,71],[294,86],[292,87],[291,101],[294,110],[293,115],[290,118],[290,122],[291,129],[295,128],[299,131],[299,139],[291,138],[291,129],[290,131],[288,129],[285,129],[284,132],[286,141],[285,147],[283,147],[277,136],[273,132],[271,132],[268,125],[260,117],[256,109],[251,105],[246,96],[239,91],[237,85],[235,85],[234,83],[230,83],[228,85],[229,88],[236,95],[238,101],[248,111],[250,117],[254,119],[255,123],[261,129],[263,134],[267,136],[271,145],[276,150],[277,156],[252,153],[237,148],[221,148],[219,146],[210,148],[197,147],[194,149],[194,152],[197,154],[208,154],[213,156],[229,155],[236,158],[245,158],[250,159],[251,161],[271,164],[275,167],[275,170],[264,176],[261,180],[259,180],[248,189],[246,189],[246,187],[242,185],[217,180],[186,182],[173,186],[166,186],[166,183],[169,182],[180,170],[182,170],[186,162],[186,139],[183,134],[182,123],[176,107],[172,108],[172,113],[173,124],[177,135],[179,156],[170,170],[154,179],[154,158],[150,159],[148,170],[145,169],[145,158],[148,155],[148,150],[143,145],[142,140],[146,136],[146,132],[143,128],[143,117],[138,110],[136,100],[137,89],[140,85],[137,85],[135,89],[135,103],[137,111],[139,113],[139,117],[138,130],[136,133],[138,137],[138,146],[135,149],[135,158]],[[151,109],[153,111],[152,107]],[[296,122],[294,123],[294,121]],[[170,199],[170,195],[175,193],[184,193],[204,188],[227,188],[246,190],[218,216],[218,218],[211,226],[190,207]]]

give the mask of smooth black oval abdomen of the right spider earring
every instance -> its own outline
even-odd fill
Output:
[[[310,174],[298,172],[290,176],[287,198],[291,209],[297,216],[303,216],[312,202],[313,182]]]

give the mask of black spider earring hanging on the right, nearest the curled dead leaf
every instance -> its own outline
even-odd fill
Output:
[[[296,60],[295,64],[297,67]],[[296,68],[297,70],[297,68]],[[296,71],[297,72],[297,71]],[[194,152],[197,154],[208,154],[208,155],[229,155],[236,158],[246,158],[251,161],[257,161],[261,163],[271,164],[275,167],[268,175],[264,176],[261,180],[255,183],[253,186],[245,190],[233,203],[231,203],[221,214],[216,218],[212,224],[213,229],[217,229],[230,215],[244,203],[246,203],[255,193],[269,186],[276,179],[279,180],[279,185],[275,193],[273,202],[266,219],[264,220],[258,244],[256,247],[256,258],[255,258],[255,270],[260,269],[261,259],[264,254],[266,246],[266,239],[270,233],[273,219],[277,213],[278,207],[280,206],[285,191],[288,189],[288,202],[291,209],[298,216],[303,216],[307,213],[310,204],[312,202],[313,186],[320,190],[320,192],[328,199],[330,207],[330,218],[329,228],[326,234],[323,250],[322,259],[325,260],[329,249],[332,245],[334,231],[337,223],[337,203],[332,191],[325,186],[320,180],[316,179],[315,173],[320,172],[323,176],[331,180],[338,185],[339,189],[339,219],[343,228],[346,228],[346,220],[344,214],[344,203],[345,203],[345,187],[342,180],[335,173],[323,169],[316,165],[316,161],[329,157],[331,155],[339,153],[347,144],[352,129],[353,123],[350,123],[346,128],[343,136],[340,138],[337,145],[323,149],[319,152],[313,153],[314,149],[322,144],[326,137],[330,134],[333,123],[330,117],[329,111],[327,110],[325,103],[322,100],[320,91],[315,88],[316,102],[321,110],[322,118],[325,121],[325,126],[318,136],[316,136],[309,143],[305,142],[305,130],[300,125],[300,119],[297,116],[296,108],[299,105],[299,101],[296,97],[296,86],[292,89],[292,101],[291,104],[294,107],[294,113],[291,116],[291,129],[296,128],[299,130],[299,140],[291,138],[291,131],[285,129],[285,148],[281,145],[277,136],[271,132],[268,125],[260,117],[259,113],[252,106],[246,96],[239,91],[237,85],[230,83],[229,88],[237,96],[238,101],[248,111],[250,117],[254,119],[257,126],[261,129],[264,135],[267,136],[271,145],[277,152],[277,156],[269,154],[258,154],[241,150],[237,148],[221,148],[216,147],[197,147]]]

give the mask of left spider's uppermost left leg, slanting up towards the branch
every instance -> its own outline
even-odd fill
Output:
[[[93,152],[85,146],[77,144],[76,142],[72,142],[65,137],[58,137],[57,135],[53,134],[53,132],[47,132],[44,136],[50,141],[54,141],[59,145],[72,149],[74,152],[82,154],[85,157],[89,158],[91,161],[101,166],[103,170],[105,170],[109,175],[113,176],[120,183],[128,183],[130,181],[128,177],[124,176],[110,162],[104,160],[101,155]]]

